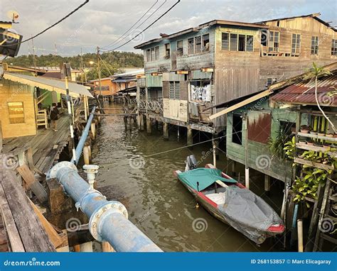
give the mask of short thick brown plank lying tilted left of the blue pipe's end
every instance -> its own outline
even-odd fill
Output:
[[[23,180],[28,184],[28,187],[33,191],[38,200],[43,203],[48,200],[48,194],[46,189],[43,187],[40,182],[36,181],[33,172],[29,169],[27,165],[22,165],[21,167],[17,167],[16,170],[23,177]]]

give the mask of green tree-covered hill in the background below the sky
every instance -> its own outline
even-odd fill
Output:
[[[143,67],[144,57],[141,54],[134,52],[105,52],[101,55],[102,60],[112,67]],[[90,61],[97,62],[97,55],[95,53],[87,53],[82,55],[84,67],[92,67]],[[33,55],[21,55],[19,57],[9,57],[4,62],[23,67],[33,67]],[[71,67],[79,68],[81,62],[80,55],[73,57],[62,57],[60,55],[40,55],[36,56],[36,66],[38,67],[60,67],[63,62],[70,62]],[[102,65],[102,70],[105,69]],[[103,77],[103,76],[102,76]]]

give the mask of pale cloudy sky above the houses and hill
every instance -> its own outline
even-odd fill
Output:
[[[26,39],[52,25],[83,2],[84,0],[0,0],[0,21],[9,21],[9,14],[16,11],[19,18],[13,29]],[[113,49],[139,34],[175,2],[175,0],[90,0],[73,16],[35,38],[33,43],[36,54],[58,53],[70,56],[80,54],[81,48],[83,53],[95,52],[97,46]],[[154,7],[149,13],[121,41],[119,37],[152,5]],[[159,6],[161,8],[148,18]],[[336,7],[336,0],[181,0],[154,26],[118,50],[141,53],[141,50],[134,50],[134,46],[146,40],[159,38],[159,33],[174,33],[214,19],[257,22],[320,12],[321,19],[331,22],[331,26],[336,27]],[[146,18],[147,21],[139,26]],[[112,43],[116,44],[111,45]],[[19,55],[32,53],[32,48],[31,42],[23,43]]]

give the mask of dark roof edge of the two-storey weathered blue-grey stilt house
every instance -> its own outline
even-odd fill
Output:
[[[146,41],[145,43],[141,43],[137,46],[134,46],[134,49],[141,49],[151,43],[158,43],[161,40],[169,40],[170,38],[176,38],[179,35],[184,35],[184,34],[191,33],[191,32],[198,32],[203,28],[207,28],[210,26],[216,26],[216,25],[218,26],[239,26],[239,27],[246,27],[246,28],[269,28],[269,26],[266,26],[265,24],[260,24],[260,23],[243,23],[243,22],[236,22],[236,21],[213,20],[213,21],[209,21],[208,23],[200,24],[199,26],[195,28],[188,28],[183,31],[179,31],[179,32],[167,35],[163,38],[155,38],[153,40]]]

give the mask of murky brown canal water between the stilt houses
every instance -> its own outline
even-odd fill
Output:
[[[119,106],[110,106],[118,108]],[[115,111],[114,111],[115,113]],[[184,160],[193,153],[202,165],[213,161],[207,155],[210,143],[197,145],[193,150],[182,148],[170,153],[153,155],[186,145],[186,138],[170,134],[170,140],[161,138],[161,131],[153,129],[151,136],[146,132],[126,131],[119,116],[102,120],[93,162],[100,165],[97,175],[98,189],[109,200],[121,201],[129,211],[129,219],[151,240],[165,251],[275,251],[279,249],[276,239],[269,238],[261,246],[255,245],[234,228],[210,216],[188,190],[173,177],[173,170],[183,170]],[[198,136],[198,135],[197,135]],[[130,166],[130,159],[134,160]],[[205,157],[206,156],[206,157]],[[203,159],[205,157],[205,159]],[[139,167],[139,161],[144,166]],[[140,162],[141,164],[141,162]],[[218,167],[227,169],[225,155],[220,153]],[[139,167],[139,168],[137,168]],[[230,168],[230,167],[229,167]],[[238,168],[241,170],[241,168]],[[271,195],[263,192],[262,175],[253,176],[250,184],[253,192],[262,195],[279,212],[282,202],[282,184],[273,182]],[[196,220],[198,219],[198,220]],[[193,230],[193,221],[199,222]]]

